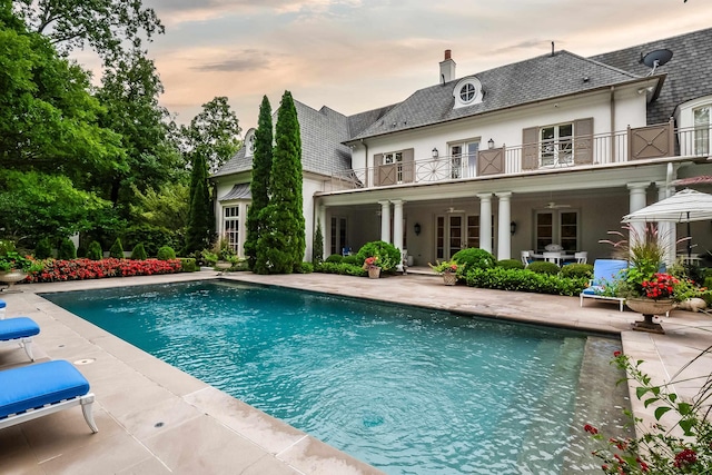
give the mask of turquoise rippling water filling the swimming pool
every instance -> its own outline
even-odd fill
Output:
[[[42,296],[389,474],[589,457],[582,334],[227,281]]]

